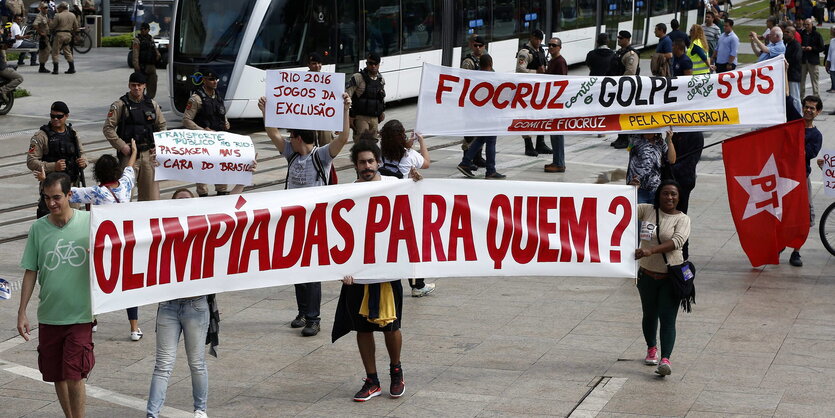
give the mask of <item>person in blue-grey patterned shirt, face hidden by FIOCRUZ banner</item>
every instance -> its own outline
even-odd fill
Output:
[[[652,203],[655,191],[661,184],[661,167],[665,165],[662,158],[666,156],[669,164],[675,164],[676,148],[672,138],[672,128],[667,130],[666,140],[661,139],[661,134],[632,135],[630,138],[632,145],[629,148],[626,180],[638,186],[638,203]]]

